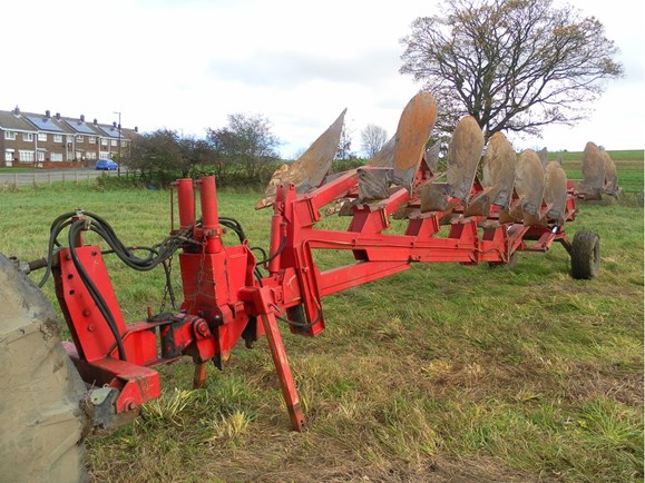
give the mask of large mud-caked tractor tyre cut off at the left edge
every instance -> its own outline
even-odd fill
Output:
[[[0,480],[86,482],[86,395],[42,292],[0,254]]]

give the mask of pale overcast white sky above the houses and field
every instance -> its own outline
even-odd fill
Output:
[[[286,158],[302,152],[346,107],[353,150],[368,124],[397,128],[419,90],[401,76],[400,39],[437,2],[418,0],[29,0],[2,6],[0,109],[45,112],[202,137],[227,116],[262,115]],[[638,7],[636,7],[638,6]],[[643,149],[643,6],[579,2],[620,49],[624,79],[607,85],[594,117],[551,127],[517,150]]]

